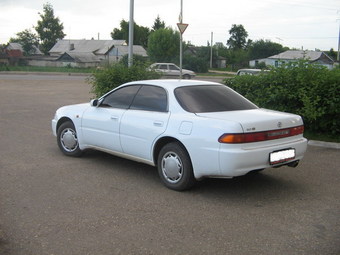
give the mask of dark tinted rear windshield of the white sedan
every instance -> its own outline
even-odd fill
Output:
[[[227,86],[187,86],[175,89],[184,110],[193,113],[250,110],[258,108]]]

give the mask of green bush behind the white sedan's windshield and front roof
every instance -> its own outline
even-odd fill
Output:
[[[136,64],[129,68],[123,64],[113,64],[96,70],[92,73],[88,82],[92,84],[92,92],[100,97],[126,82],[158,78],[160,78],[160,75],[155,71],[147,70],[145,65]]]

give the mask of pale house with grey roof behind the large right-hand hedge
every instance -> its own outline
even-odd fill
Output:
[[[332,69],[334,65],[334,60],[322,51],[287,50],[268,58],[250,60],[249,66],[256,67],[259,63],[265,63],[266,66],[278,67],[281,64],[297,61],[299,59],[306,59],[310,63],[323,65],[328,69]]]

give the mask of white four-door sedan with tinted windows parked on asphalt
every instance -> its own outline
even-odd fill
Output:
[[[174,190],[207,177],[295,167],[307,148],[300,116],[258,108],[206,81],[126,83],[89,103],[59,108],[52,130],[68,156],[96,149],[157,166]]]

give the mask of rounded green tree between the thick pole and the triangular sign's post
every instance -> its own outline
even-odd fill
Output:
[[[154,62],[171,62],[179,56],[180,35],[172,28],[161,28],[151,33],[148,55]]]

